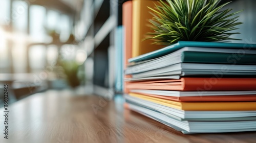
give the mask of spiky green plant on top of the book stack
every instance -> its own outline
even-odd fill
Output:
[[[154,33],[146,39],[155,40],[154,44],[169,45],[178,41],[223,41],[240,40],[230,38],[230,31],[237,30],[237,13],[229,14],[232,9],[222,10],[221,0],[160,0],[152,10],[153,18],[150,26]]]

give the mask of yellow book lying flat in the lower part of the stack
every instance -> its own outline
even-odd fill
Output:
[[[171,108],[186,111],[252,111],[256,110],[256,102],[176,102],[129,93],[130,96],[154,102]]]

